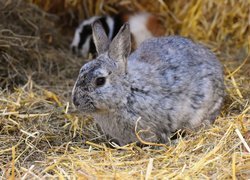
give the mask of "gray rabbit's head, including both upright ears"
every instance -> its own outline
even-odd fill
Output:
[[[126,103],[129,88],[129,25],[124,24],[111,43],[99,21],[93,23],[92,30],[98,57],[81,68],[73,89],[73,103],[85,113],[112,111]]]

